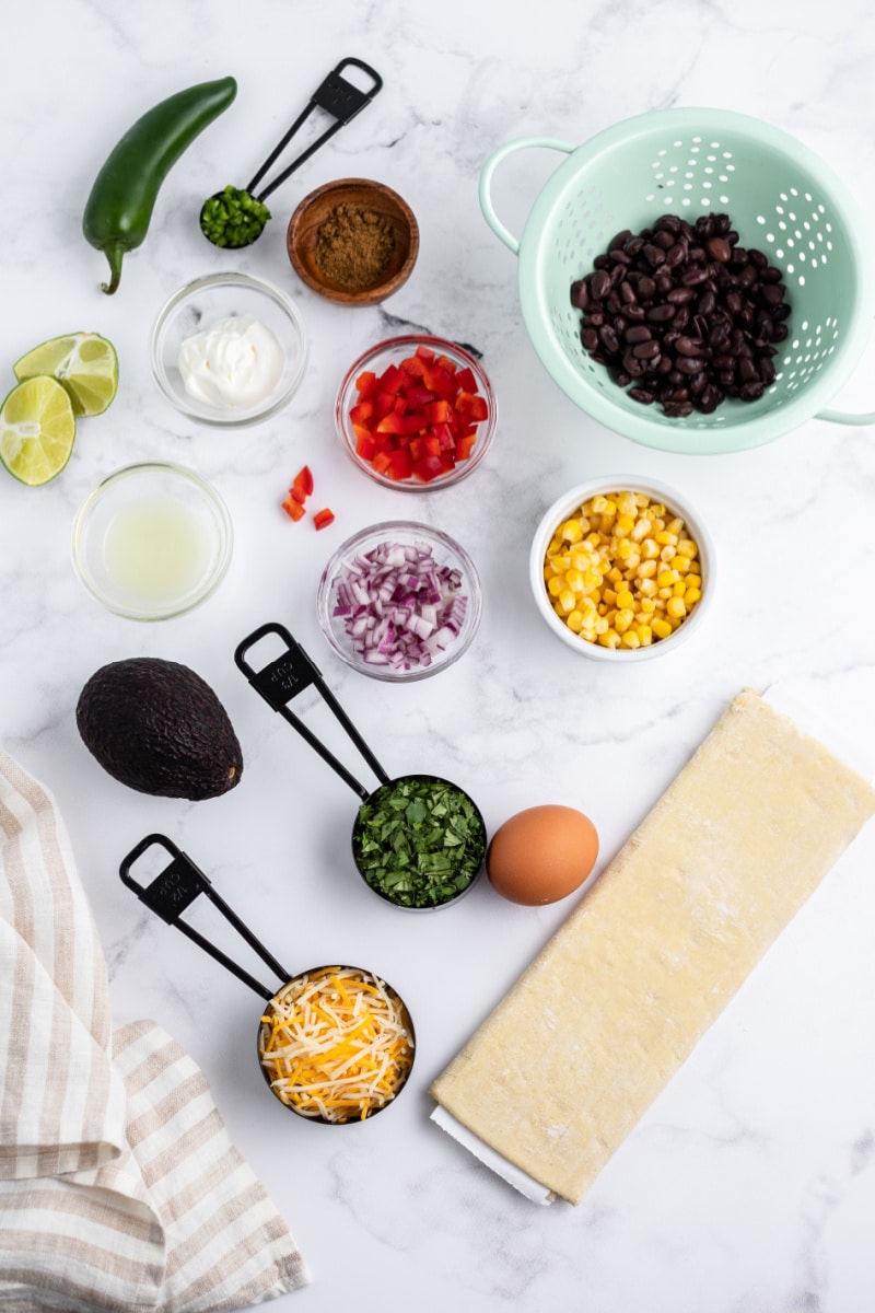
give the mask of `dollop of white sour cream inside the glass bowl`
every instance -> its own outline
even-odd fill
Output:
[[[274,390],[286,364],[273,332],[253,315],[216,319],[180,347],[189,397],[222,410],[248,410]]]

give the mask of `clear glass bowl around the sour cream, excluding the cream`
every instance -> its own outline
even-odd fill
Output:
[[[180,373],[180,348],[188,337],[219,319],[252,315],[269,328],[283,349],[279,382],[254,404],[211,406],[190,397]],[[168,402],[186,419],[215,428],[243,428],[277,415],[298,391],[307,368],[308,341],[303,320],[289,297],[247,273],[215,273],[188,282],[159,311],[150,341],[152,373]]]

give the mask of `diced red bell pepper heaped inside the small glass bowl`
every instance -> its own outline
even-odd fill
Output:
[[[356,379],[356,453],[391,479],[430,482],[470,460],[489,406],[474,370],[418,345],[382,374]]]

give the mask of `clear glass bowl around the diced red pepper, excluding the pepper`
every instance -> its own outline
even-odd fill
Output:
[[[458,461],[454,469],[447,470],[445,474],[438,474],[428,482],[417,478],[404,478],[394,479],[387,474],[375,470],[369,460],[359,456],[357,450],[358,437],[356,428],[349,416],[350,410],[358,399],[358,390],[356,387],[356,379],[365,370],[373,370],[378,377],[388,369],[390,365],[400,365],[401,361],[413,356],[417,347],[425,347],[436,353],[436,356],[447,356],[457,369],[464,369],[466,366],[471,369],[474,377],[478,381],[478,390],[480,395],[485,399],[488,406],[487,418],[480,420],[478,424],[478,436],[474,445],[471,456],[463,461]],[[480,461],[484,458],[489,446],[492,445],[492,439],[495,437],[496,424],[499,421],[499,406],[496,402],[496,395],[492,390],[492,383],[487,378],[487,374],[478,360],[471,356],[464,347],[457,345],[457,343],[446,341],[443,337],[429,337],[425,335],[411,334],[404,337],[391,337],[387,341],[379,343],[376,347],[371,347],[366,351],[358,360],[350,365],[342,383],[340,385],[340,391],[337,393],[337,400],[335,402],[335,427],[344,444],[344,450],[358,466],[363,470],[369,478],[374,479],[376,483],[382,483],[387,488],[400,488],[403,492],[434,492],[437,488],[449,487],[451,483],[458,483],[460,479],[467,478],[476,470]]]

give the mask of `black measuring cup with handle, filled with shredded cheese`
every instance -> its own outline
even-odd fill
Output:
[[[142,885],[131,874],[131,867],[155,847],[169,853],[171,860],[148,885]],[[216,893],[199,867],[167,835],[148,834],[140,839],[122,859],[119,876],[150,911],[168,926],[176,926],[265,999],[268,1006],[258,1020],[258,1066],[283,1107],[310,1121],[345,1125],[382,1112],[401,1092],[413,1067],[416,1037],[404,999],[384,979],[361,966],[341,965],[312,966],[291,976]],[[279,990],[260,983],[181,919],[199,894],[206,894],[270,970],[285,981]],[[321,1003],[337,1016],[336,1032],[327,1029]],[[317,1014],[315,1024],[314,1012]],[[375,1036],[363,1037],[365,1028],[373,1029]],[[373,1052],[369,1052],[369,1043]],[[320,1056],[310,1057],[315,1048]]]

